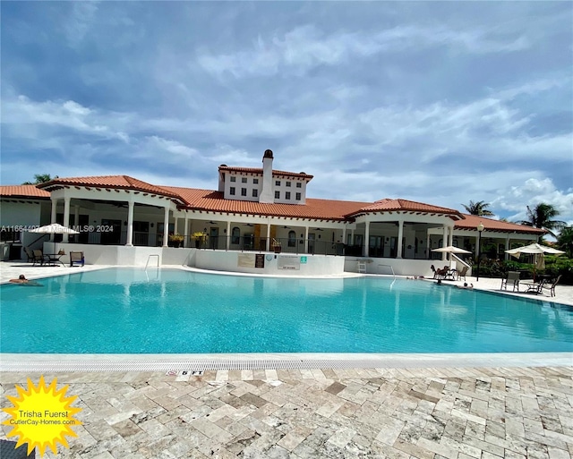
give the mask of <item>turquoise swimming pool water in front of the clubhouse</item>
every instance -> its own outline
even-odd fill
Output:
[[[113,268],[1,285],[3,353],[573,351],[573,308],[406,279]]]

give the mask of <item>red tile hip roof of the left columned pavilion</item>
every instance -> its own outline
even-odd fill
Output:
[[[96,175],[91,177],[56,178],[47,183],[40,183],[38,188],[52,191],[61,188],[62,185],[146,191],[174,198],[175,200],[181,200],[181,197],[172,191],[168,191],[157,185],[152,185],[151,183],[143,182],[130,177],[129,175]]]

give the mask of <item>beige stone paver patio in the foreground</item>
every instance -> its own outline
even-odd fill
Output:
[[[39,375],[4,372],[5,395]],[[45,457],[573,455],[573,367],[59,373],[82,408]],[[2,412],[2,419],[7,414]],[[2,438],[11,428],[3,426]]]

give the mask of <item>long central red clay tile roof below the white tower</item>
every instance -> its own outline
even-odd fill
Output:
[[[344,220],[348,213],[368,204],[367,202],[312,200],[309,198],[306,199],[306,204],[262,204],[261,202],[245,200],[225,200],[222,191],[197,190],[174,186],[164,186],[163,188],[181,195],[184,200],[189,202],[190,208],[193,209],[271,217]]]

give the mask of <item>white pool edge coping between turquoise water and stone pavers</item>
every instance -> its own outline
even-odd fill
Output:
[[[573,367],[573,353],[0,353],[0,372]]]

